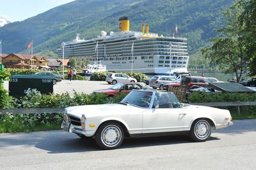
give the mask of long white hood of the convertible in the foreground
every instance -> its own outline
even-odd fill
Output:
[[[116,114],[131,114],[132,112],[143,111],[140,107],[123,104],[101,104],[101,105],[79,105],[65,108],[67,114],[81,118],[82,114],[86,118],[95,116],[115,116]]]

